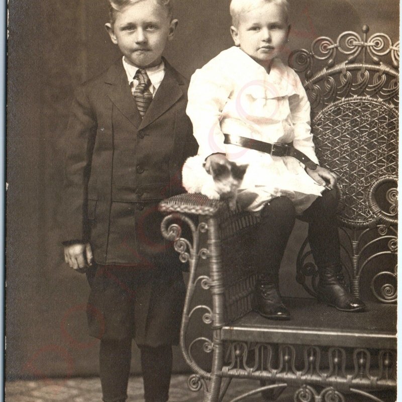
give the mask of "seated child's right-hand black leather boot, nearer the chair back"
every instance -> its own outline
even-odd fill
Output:
[[[358,312],[365,309],[364,303],[346,288],[340,265],[319,267],[319,275],[317,287],[319,302],[346,312]]]

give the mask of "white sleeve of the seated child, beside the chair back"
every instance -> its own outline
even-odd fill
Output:
[[[293,146],[318,164],[313,134],[311,132],[311,108],[305,88],[296,76],[296,94],[289,98],[289,107],[294,128]]]

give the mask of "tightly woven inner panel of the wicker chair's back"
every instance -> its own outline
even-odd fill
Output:
[[[368,193],[377,179],[396,175],[397,110],[358,96],[327,106],[313,125],[321,164],[340,176],[340,220],[360,228],[377,223]]]

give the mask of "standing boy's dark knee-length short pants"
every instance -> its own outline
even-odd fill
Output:
[[[89,335],[157,347],[179,341],[185,285],[177,267],[95,265],[86,273]]]

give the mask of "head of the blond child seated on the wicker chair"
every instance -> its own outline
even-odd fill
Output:
[[[263,1],[258,7],[241,13],[237,27],[231,27],[235,45],[264,67],[282,51],[289,30],[284,10]]]

